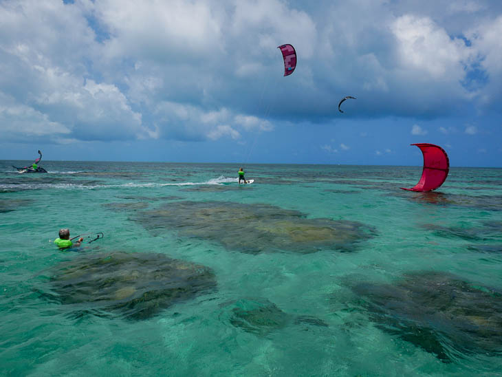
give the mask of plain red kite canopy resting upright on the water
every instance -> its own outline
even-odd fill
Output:
[[[422,177],[415,186],[411,189],[405,189],[404,187],[401,189],[409,191],[433,191],[437,189],[448,177],[448,171],[450,170],[448,155],[444,149],[435,144],[422,142],[411,145],[416,145],[422,151],[424,169],[422,170]]]

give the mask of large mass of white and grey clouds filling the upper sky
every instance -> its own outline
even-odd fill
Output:
[[[30,129],[36,118],[60,130],[44,140],[63,130],[66,140],[232,138],[218,127],[240,135],[278,122],[326,122],[340,115],[336,103],[348,94],[358,100],[346,116],[360,118],[438,118],[472,105],[496,112],[497,7],[469,0],[6,0],[0,91],[10,98],[4,107],[31,114],[16,129]],[[454,24],[452,14],[462,22]],[[283,77],[276,47],[286,42],[299,65]],[[16,129],[9,137],[22,140]]]

